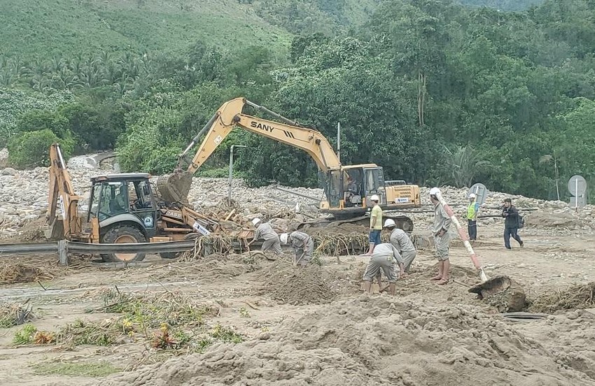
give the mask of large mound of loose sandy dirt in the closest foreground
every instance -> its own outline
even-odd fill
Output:
[[[362,295],[101,385],[594,385],[595,361],[568,356],[474,307]]]

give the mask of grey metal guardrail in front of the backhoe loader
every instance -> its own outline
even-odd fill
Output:
[[[195,247],[194,240],[167,241],[165,243],[90,244],[60,240],[54,243],[0,244],[3,255],[59,255],[60,264],[68,265],[69,253],[99,255],[102,253],[163,253],[185,252]]]

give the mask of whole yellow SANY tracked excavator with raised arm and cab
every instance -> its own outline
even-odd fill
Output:
[[[283,123],[246,115],[242,113],[246,105],[272,115]],[[188,202],[193,173],[204,164],[234,127],[307,152],[320,170],[326,196],[326,200],[320,203],[320,210],[323,213],[332,214],[337,220],[345,220],[343,222],[363,220],[361,216],[370,210],[372,206],[370,196],[374,194],[379,196],[380,206],[384,210],[421,207],[417,185],[405,185],[404,181],[385,181],[381,166],[376,164],[342,165],[328,140],[319,131],[288,120],[244,98],[225,102],[181,153],[174,173],[158,179],[157,186],[164,199],[172,202]],[[205,131],[207,136],[186,171],[183,171],[182,164],[186,155],[198,143]],[[413,229],[412,220],[405,215],[387,214],[385,217],[395,220],[397,227],[405,231]]]

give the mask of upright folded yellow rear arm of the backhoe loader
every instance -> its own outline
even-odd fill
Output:
[[[80,234],[82,231],[82,220],[78,216],[78,201],[80,196],[74,193],[70,174],[66,169],[66,162],[62,157],[62,150],[57,143],[50,146],[50,193],[48,196],[48,213],[45,216],[48,224],[52,227],[51,234],[58,236],[53,230],[59,220],[64,224],[64,238]],[[56,213],[57,205],[60,205],[62,219]]]

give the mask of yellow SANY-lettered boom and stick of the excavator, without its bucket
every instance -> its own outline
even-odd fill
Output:
[[[263,120],[262,118],[252,117],[251,115],[245,115],[241,111],[246,104],[272,114],[285,123],[272,122]],[[225,137],[230,134],[234,127],[240,127],[241,129],[274,139],[275,141],[286,143],[294,148],[302,149],[314,159],[314,162],[316,162],[316,165],[321,170],[338,168],[341,165],[337,155],[335,155],[335,151],[332,150],[332,146],[319,131],[300,127],[296,122],[281,117],[281,115],[273,113],[262,106],[246,101],[244,98],[237,98],[224,103],[182,153],[181,156],[186,155],[197,143],[202,133],[207,129],[209,130],[193,157],[192,162],[190,162],[188,172],[195,173],[213,154]]]

